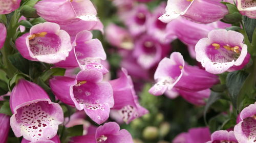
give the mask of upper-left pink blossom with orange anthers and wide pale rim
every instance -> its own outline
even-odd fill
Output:
[[[24,58],[49,64],[65,60],[72,50],[69,34],[51,22],[32,26],[15,44]]]

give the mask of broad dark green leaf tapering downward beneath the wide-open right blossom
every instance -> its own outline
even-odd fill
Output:
[[[226,86],[234,108],[238,107],[238,95],[248,74],[245,71],[234,71],[227,75]]]

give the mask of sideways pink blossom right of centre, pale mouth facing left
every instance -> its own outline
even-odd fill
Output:
[[[197,66],[185,64],[179,52],[173,52],[170,58],[164,58],[159,63],[154,79],[157,83],[149,92],[156,96],[174,87],[179,90],[198,92],[219,83],[218,76],[199,69]]]

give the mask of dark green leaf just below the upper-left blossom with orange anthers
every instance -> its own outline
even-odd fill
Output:
[[[25,74],[29,74],[29,61],[23,58],[20,53],[9,55],[8,59],[16,69]]]

